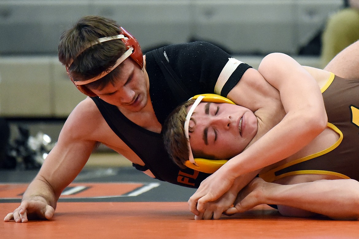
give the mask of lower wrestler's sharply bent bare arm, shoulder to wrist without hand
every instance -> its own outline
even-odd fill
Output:
[[[327,123],[316,80],[293,58],[280,53],[270,54],[263,59],[258,72],[279,91],[286,114],[278,125],[234,157],[235,160],[229,160],[232,165],[226,165],[227,169],[231,167],[236,176],[296,153],[319,135]]]

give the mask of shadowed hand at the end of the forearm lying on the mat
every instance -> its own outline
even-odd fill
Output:
[[[265,184],[268,184],[261,178],[254,178],[250,183],[247,184],[239,193],[234,207],[229,208],[224,212],[225,215],[233,215],[239,212],[245,212],[252,209],[257,205],[263,204],[262,192]]]

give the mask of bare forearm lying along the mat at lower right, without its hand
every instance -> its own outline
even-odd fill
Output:
[[[299,208],[339,220],[359,218],[359,182],[352,179],[292,185],[265,183],[261,192],[261,203]]]

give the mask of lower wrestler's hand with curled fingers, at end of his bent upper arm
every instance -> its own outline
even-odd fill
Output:
[[[190,211],[196,216],[201,217],[206,211],[206,203],[216,201],[232,187],[236,178],[230,177],[225,170],[221,170],[222,168],[202,181],[197,191],[188,200]],[[212,208],[211,206],[208,207]]]

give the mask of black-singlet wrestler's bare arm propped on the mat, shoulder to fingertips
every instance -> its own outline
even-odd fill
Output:
[[[52,217],[61,192],[79,174],[96,144],[90,140],[89,128],[92,127],[84,122],[89,113],[84,107],[86,102],[81,102],[70,114],[56,146],[25,191],[21,205],[4,221],[26,222],[31,218]]]

